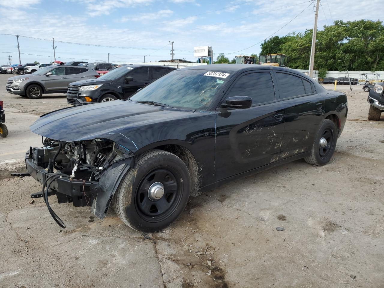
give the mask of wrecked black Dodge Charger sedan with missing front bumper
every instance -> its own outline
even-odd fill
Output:
[[[326,164],[347,111],[345,94],[288,68],[175,70],[128,100],[41,116],[30,129],[46,137],[44,147],[25,156],[28,174],[43,184],[31,197],[43,197],[62,227],[49,195],[90,206],[99,219],[112,203],[130,227],[161,230],[190,195],[301,158]]]

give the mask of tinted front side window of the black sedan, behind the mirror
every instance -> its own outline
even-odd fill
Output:
[[[257,72],[241,76],[229,91],[230,96],[251,97],[252,105],[274,101],[275,89],[271,73]]]

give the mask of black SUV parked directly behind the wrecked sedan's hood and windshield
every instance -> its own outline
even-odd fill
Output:
[[[126,99],[175,69],[155,65],[129,65],[116,68],[97,79],[70,83],[67,101],[72,105],[82,105]]]

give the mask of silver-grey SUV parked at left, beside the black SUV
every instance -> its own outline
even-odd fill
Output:
[[[7,81],[7,92],[30,99],[39,99],[48,93],[66,93],[72,82],[95,79],[99,74],[90,67],[52,65],[41,68],[31,75],[11,77]]]

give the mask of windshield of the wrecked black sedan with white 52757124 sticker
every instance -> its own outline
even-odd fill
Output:
[[[205,110],[229,75],[206,70],[172,71],[138,91],[130,100],[153,101],[188,110]]]

